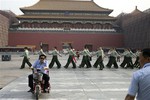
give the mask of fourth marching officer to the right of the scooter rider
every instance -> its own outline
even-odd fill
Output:
[[[99,70],[103,70],[103,68],[104,68],[104,64],[103,64],[104,51],[103,51],[102,47],[99,47],[99,49],[95,53],[95,55],[97,55],[97,60],[94,63],[93,67],[97,68],[97,66],[99,65],[100,66]]]

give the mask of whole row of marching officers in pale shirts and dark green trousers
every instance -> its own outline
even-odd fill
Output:
[[[27,49],[25,49],[26,51]],[[45,54],[45,53],[44,53]],[[140,54],[140,50],[137,50],[136,53],[133,53],[130,49],[124,49],[123,53],[118,53],[115,48],[111,48],[108,53],[104,53],[102,47],[99,47],[98,50],[91,54],[88,50],[88,48],[85,46],[83,51],[81,52],[76,52],[72,47],[69,47],[67,52],[64,53],[65,55],[69,54],[68,60],[66,65],[64,66],[64,68],[68,68],[69,64],[72,63],[73,67],[72,68],[76,68],[76,59],[75,57],[79,57],[79,55],[83,55],[81,64],[79,65],[79,68],[83,68],[86,65],[86,68],[91,68],[91,59],[93,56],[97,56],[97,59],[95,61],[95,63],[93,64],[94,68],[97,68],[99,66],[99,70],[103,70],[104,68],[104,63],[103,60],[105,57],[109,58],[108,63],[106,64],[107,68],[111,68],[112,66],[114,68],[119,68],[117,61],[119,61],[119,59],[121,57],[124,57],[122,63],[120,64],[121,68],[131,68],[133,69],[134,67],[136,68],[140,68],[140,64],[139,64],[139,54]],[[26,52],[24,55],[27,55]],[[57,50],[57,47],[54,47],[52,52],[50,53],[50,55],[52,55],[52,60],[49,64],[49,68],[52,68],[54,63],[57,64],[57,68],[61,68],[61,64],[58,60],[58,55],[62,56],[59,51]],[[136,61],[132,62],[132,58],[136,57]],[[24,56],[24,58],[27,58],[26,56]],[[21,69],[24,68],[25,63],[27,63],[29,66],[31,66],[31,64],[29,64],[28,60],[23,60],[23,64],[21,66]]]

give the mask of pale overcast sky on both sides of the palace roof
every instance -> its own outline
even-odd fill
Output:
[[[39,0],[0,0],[0,10],[11,10],[16,15],[23,14],[19,8],[32,6]],[[117,16],[118,14],[130,13],[135,9],[135,6],[140,11],[144,11],[150,8],[150,0],[94,0],[94,2],[103,7],[112,9],[111,16]]]

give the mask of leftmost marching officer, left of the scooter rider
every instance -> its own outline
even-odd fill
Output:
[[[27,47],[24,47],[24,54],[23,54],[23,61],[22,61],[22,65],[20,67],[20,69],[25,68],[25,64],[27,63],[29,67],[32,66],[32,64],[29,61],[29,51]]]

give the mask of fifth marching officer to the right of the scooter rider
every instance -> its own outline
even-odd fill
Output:
[[[117,64],[117,61],[116,61],[116,58],[118,56],[120,56],[117,51],[115,50],[115,48],[112,48],[108,51],[108,55],[109,55],[109,61],[106,65],[107,68],[111,68],[112,64],[114,65],[114,68],[118,68],[118,64]]]

